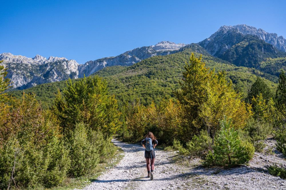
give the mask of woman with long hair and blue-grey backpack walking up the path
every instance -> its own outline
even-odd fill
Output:
[[[158,144],[158,141],[156,140],[156,137],[153,135],[152,132],[148,132],[145,138],[141,141],[141,144],[145,148],[144,157],[146,159],[148,177],[150,177],[150,179],[153,180],[154,161],[156,157],[154,148]],[[149,166],[150,163],[151,163],[151,172]]]

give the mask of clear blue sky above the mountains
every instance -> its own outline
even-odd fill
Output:
[[[78,63],[160,41],[197,43],[223,25],[286,38],[286,1],[1,1],[0,53]]]

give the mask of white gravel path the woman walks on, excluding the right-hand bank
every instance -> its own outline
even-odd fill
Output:
[[[117,140],[112,142],[123,149],[124,158],[85,189],[167,189],[172,184],[179,184],[180,171],[171,162],[175,151],[155,149],[154,179],[151,181],[147,178],[143,146]]]

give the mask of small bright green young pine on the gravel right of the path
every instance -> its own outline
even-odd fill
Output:
[[[224,120],[219,120],[219,122],[222,129],[215,139],[213,148],[217,164],[232,166],[249,161],[249,156],[241,145],[237,132],[230,127],[231,119],[227,121],[225,116]]]

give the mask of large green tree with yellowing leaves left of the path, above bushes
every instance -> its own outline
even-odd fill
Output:
[[[52,110],[61,121],[63,133],[83,122],[110,137],[121,125],[117,100],[108,94],[107,82],[97,76],[74,83],[69,79],[63,97],[58,91]]]

